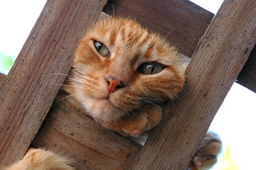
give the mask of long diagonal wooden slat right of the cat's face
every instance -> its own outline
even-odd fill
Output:
[[[186,169],[256,43],[256,1],[224,1],[187,67],[187,86],[131,169]]]

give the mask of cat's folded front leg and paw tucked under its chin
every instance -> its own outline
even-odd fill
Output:
[[[109,130],[119,132],[121,135],[138,136],[143,132],[155,128],[162,118],[162,108],[148,106],[140,111],[131,111],[120,120],[104,121],[96,119],[98,123]]]

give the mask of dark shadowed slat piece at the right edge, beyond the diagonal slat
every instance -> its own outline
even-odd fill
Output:
[[[256,46],[238,76],[238,84],[256,93]]]

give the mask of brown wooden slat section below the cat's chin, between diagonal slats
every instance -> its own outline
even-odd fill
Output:
[[[81,170],[129,169],[141,148],[62,103],[53,104],[32,145],[66,153]]]

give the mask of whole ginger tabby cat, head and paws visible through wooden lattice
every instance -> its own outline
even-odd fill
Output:
[[[67,104],[87,113],[121,135],[141,135],[162,118],[168,98],[184,86],[184,65],[177,50],[159,35],[126,18],[104,18],[82,38],[62,91]],[[208,133],[190,169],[207,169],[216,162],[221,140]],[[73,169],[53,152],[30,149],[12,169]],[[203,168],[202,168],[203,167]]]

